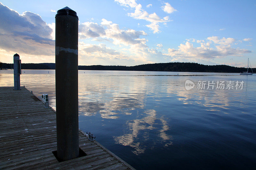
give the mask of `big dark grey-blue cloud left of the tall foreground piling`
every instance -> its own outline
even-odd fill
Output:
[[[19,14],[0,3],[0,48],[32,55],[54,55],[52,29],[35,13]]]

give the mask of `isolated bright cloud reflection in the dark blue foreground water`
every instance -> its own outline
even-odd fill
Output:
[[[166,134],[169,129],[167,121],[164,118],[157,118],[156,110],[146,110],[142,115],[144,117],[141,119],[126,122],[127,129],[124,129],[124,131],[128,131],[127,133],[114,137],[116,144],[133,147],[135,150],[132,152],[136,155],[144,153],[145,149],[148,148],[148,146],[144,145],[145,141],[153,138],[152,143],[156,144],[159,141],[159,137],[164,141],[171,139],[171,136]],[[160,125],[160,128],[156,125]],[[155,139],[153,136],[155,136]],[[168,144],[172,144],[172,142]]]

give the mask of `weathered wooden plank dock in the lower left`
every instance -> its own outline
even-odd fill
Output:
[[[56,113],[24,87],[0,87],[0,144],[0,169],[134,169],[80,129],[86,156],[58,162]]]

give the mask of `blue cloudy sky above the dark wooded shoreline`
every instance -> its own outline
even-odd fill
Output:
[[[79,65],[256,67],[255,0],[0,1],[0,61],[55,63],[55,15],[77,12]]]

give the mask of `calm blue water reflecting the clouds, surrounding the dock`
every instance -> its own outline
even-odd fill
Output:
[[[13,86],[0,70],[0,86]],[[49,71],[49,73],[48,73]],[[255,169],[256,76],[79,70],[79,128],[136,169]],[[185,81],[195,83],[186,90]],[[206,81],[205,89],[197,89]],[[208,81],[244,81],[216,89]],[[22,70],[20,84],[55,108],[55,70]]]

